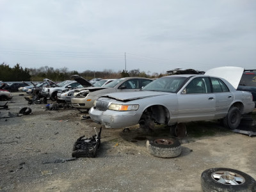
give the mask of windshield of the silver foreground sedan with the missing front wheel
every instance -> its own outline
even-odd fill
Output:
[[[161,77],[147,84],[142,90],[154,92],[177,93],[188,77],[168,76]]]

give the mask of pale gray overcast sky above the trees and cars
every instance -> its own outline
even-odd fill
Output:
[[[0,0],[0,63],[166,72],[256,68],[254,0]]]

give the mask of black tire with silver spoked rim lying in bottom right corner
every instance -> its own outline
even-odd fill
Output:
[[[256,191],[256,181],[248,174],[230,168],[211,168],[201,175],[203,191]]]

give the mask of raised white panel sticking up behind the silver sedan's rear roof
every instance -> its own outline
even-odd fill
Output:
[[[242,67],[216,67],[205,72],[207,76],[215,76],[226,79],[234,88],[237,89],[241,77],[243,75],[244,68]]]

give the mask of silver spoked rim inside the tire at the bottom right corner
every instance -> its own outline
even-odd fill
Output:
[[[211,176],[212,176],[212,179],[216,180],[216,182],[219,182],[225,185],[237,186],[245,182],[245,179],[243,176],[234,172],[220,170],[220,171],[213,172]]]

